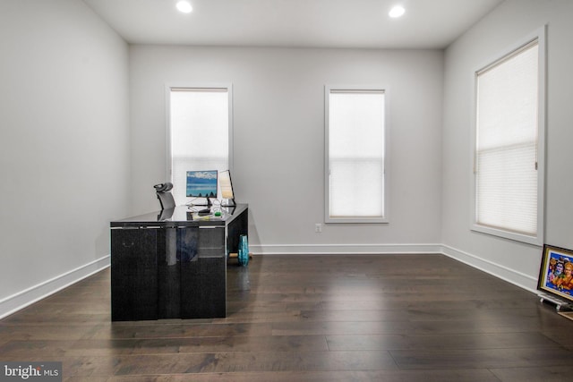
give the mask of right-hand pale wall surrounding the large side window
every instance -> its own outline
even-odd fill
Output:
[[[573,248],[573,2],[507,0],[445,55],[442,235],[446,252],[512,283],[535,289],[542,248],[470,232],[473,71],[530,32],[547,28],[545,242]]]

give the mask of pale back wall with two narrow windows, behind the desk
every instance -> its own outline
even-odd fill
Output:
[[[132,46],[132,212],[158,208],[166,84],[232,83],[232,176],[250,206],[253,252],[435,250],[423,244],[440,242],[442,60],[437,50]],[[389,87],[390,223],[315,233],[324,219],[324,86],[371,83]]]

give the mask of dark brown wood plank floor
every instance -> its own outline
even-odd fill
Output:
[[[227,318],[110,322],[106,269],[0,321],[64,381],[573,381],[573,321],[442,255],[255,256]]]

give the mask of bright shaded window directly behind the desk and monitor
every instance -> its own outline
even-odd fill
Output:
[[[184,204],[187,171],[231,167],[231,87],[169,87],[167,93],[167,179],[175,203]]]

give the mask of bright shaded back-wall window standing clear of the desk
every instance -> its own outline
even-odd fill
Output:
[[[325,93],[325,221],[387,222],[386,91],[326,87]]]

